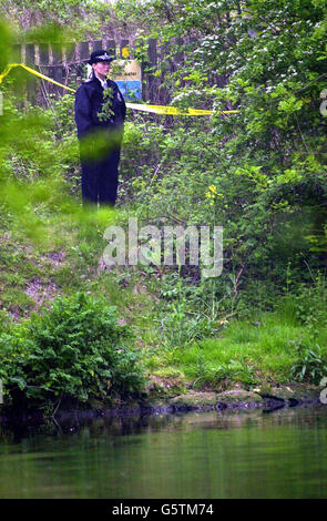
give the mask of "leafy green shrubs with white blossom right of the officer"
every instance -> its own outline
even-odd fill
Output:
[[[130,2],[119,6],[127,11]],[[216,298],[233,313],[258,299],[272,308],[286,266],[293,287],[309,282],[307,264],[325,270],[325,19],[326,6],[310,0],[157,1],[149,17],[152,35],[170,42],[161,70],[185,53],[183,67],[162,75],[172,104],[215,113],[164,125],[135,118],[124,200],[145,222],[224,226]],[[173,44],[175,37],[183,43]],[[222,116],[226,109],[239,112]]]

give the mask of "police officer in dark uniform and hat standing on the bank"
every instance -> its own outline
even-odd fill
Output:
[[[116,83],[108,78],[112,60],[108,51],[92,52],[88,61],[92,75],[75,94],[84,205],[113,206],[116,200],[126,105]]]

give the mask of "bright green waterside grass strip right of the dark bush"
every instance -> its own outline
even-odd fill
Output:
[[[311,337],[294,314],[285,309],[262,313],[255,323],[233,320],[214,338],[166,350],[164,356],[156,355],[149,360],[149,367],[156,374],[164,366],[175,368],[188,382],[200,386],[219,387],[226,379],[248,387],[258,382],[286,384],[293,378],[299,340],[309,346]],[[323,326],[317,343],[327,344]],[[326,349],[325,353],[327,356]]]

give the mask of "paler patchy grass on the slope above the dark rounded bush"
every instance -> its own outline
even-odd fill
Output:
[[[115,218],[112,211],[76,213],[70,218],[59,212],[48,213],[42,218],[44,241],[28,237],[14,216],[10,225],[0,225],[2,324],[6,314],[18,321],[39,311],[40,303],[49,307],[54,294],[85,292],[94,297],[104,296],[110,305],[116,306],[122,319],[133,323],[136,335],[140,328],[145,331],[152,295],[142,275],[132,268],[99,268],[106,246],[103,233]],[[154,340],[155,331],[151,333],[149,327],[144,337],[146,343],[150,337]]]

